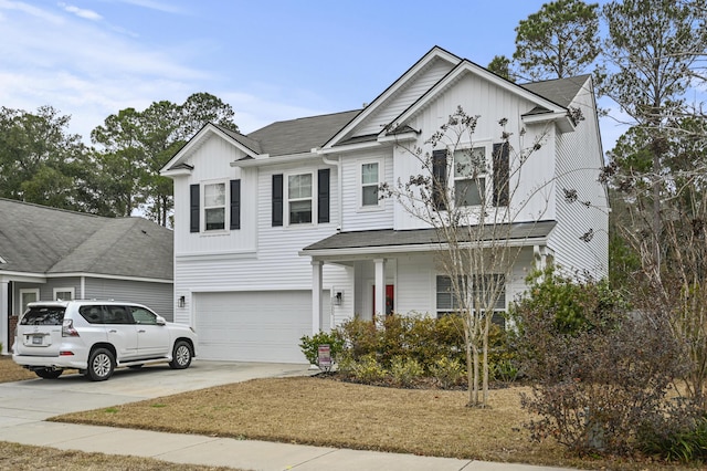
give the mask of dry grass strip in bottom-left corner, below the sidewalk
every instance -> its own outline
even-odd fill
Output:
[[[198,467],[166,463],[151,458],[116,457],[115,454],[85,453],[29,444],[0,441],[0,469],[15,471],[34,470],[102,470],[102,471],[175,471],[231,470],[232,468]]]

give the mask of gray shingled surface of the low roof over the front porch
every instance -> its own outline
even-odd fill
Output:
[[[555,221],[517,222],[514,224],[487,224],[482,228],[482,234],[462,229],[460,241],[487,241],[493,239],[525,240],[546,238],[549,236]],[[471,237],[469,237],[471,234]],[[436,229],[393,230],[378,229],[370,231],[338,232],[326,239],[313,243],[304,251],[336,251],[339,249],[386,248],[394,245],[428,245],[440,243]]]

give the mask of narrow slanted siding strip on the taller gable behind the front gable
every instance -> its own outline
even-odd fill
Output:
[[[453,67],[454,64],[442,59],[432,61],[424,70],[420,71],[414,78],[405,83],[402,90],[397,91],[397,93],[379,106],[376,112],[371,113],[361,126],[354,129],[352,135],[367,136],[380,133],[383,126],[390,124]]]

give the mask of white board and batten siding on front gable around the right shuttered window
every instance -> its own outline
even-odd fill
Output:
[[[471,145],[488,145],[502,142],[504,130],[510,133],[509,144],[511,165],[511,216],[515,221],[536,221],[555,218],[555,197],[552,189],[552,161],[555,156],[553,125],[532,126],[531,132],[520,136],[526,127],[521,123],[521,115],[532,109],[535,104],[504,90],[486,78],[467,73],[455,82],[446,92],[432,101],[410,123],[415,129],[421,129],[416,145],[424,151],[432,149],[424,142],[447,123],[449,117],[457,106],[468,115],[478,115],[474,135],[460,143],[461,147]],[[507,119],[504,127],[500,119]],[[529,127],[528,127],[529,128]],[[520,172],[515,171],[518,166],[518,154],[521,149],[532,146],[537,137],[542,138],[542,146],[532,153],[523,165]],[[412,146],[408,146],[412,148]],[[441,148],[439,146],[439,148]],[[411,151],[397,147],[393,157],[395,163],[393,181],[407,181],[410,175],[425,175],[419,159]],[[492,156],[487,156],[490,159]],[[490,161],[489,161],[490,164]],[[493,171],[493,170],[492,170]],[[520,178],[519,178],[520,176]],[[492,175],[488,176],[492,181]],[[540,191],[536,189],[541,188]],[[428,224],[410,214],[401,205],[395,206],[395,229],[419,229]]]

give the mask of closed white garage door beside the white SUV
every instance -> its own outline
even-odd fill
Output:
[[[312,335],[312,292],[194,293],[199,357],[306,363],[299,338]]]

